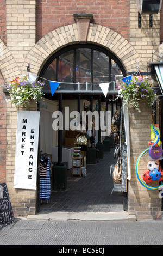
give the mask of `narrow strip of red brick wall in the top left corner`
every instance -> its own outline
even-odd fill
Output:
[[[5,0],[0,0],[0,39],[6,43],[6,8]]]

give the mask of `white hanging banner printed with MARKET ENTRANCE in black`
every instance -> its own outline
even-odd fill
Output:
[[[14,188],[36,190],[39,111],[17,112]]]

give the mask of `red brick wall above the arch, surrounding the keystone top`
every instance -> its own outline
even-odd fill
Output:
[[[37,41],[56,28],[74,23],[74,13],[93,14],[92,23],[129,40],[129,0],[36,0]]]

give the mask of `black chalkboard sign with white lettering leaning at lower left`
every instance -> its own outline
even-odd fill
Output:
[[[9,198],[8,188],[5,183],[0,184],[0,228],[15,222]]]

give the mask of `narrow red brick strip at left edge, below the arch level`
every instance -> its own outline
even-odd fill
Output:
[[[5,94],[3,93],[4,80],[0,72],[0,183],[5,182],[6,161],[6,108]]]

